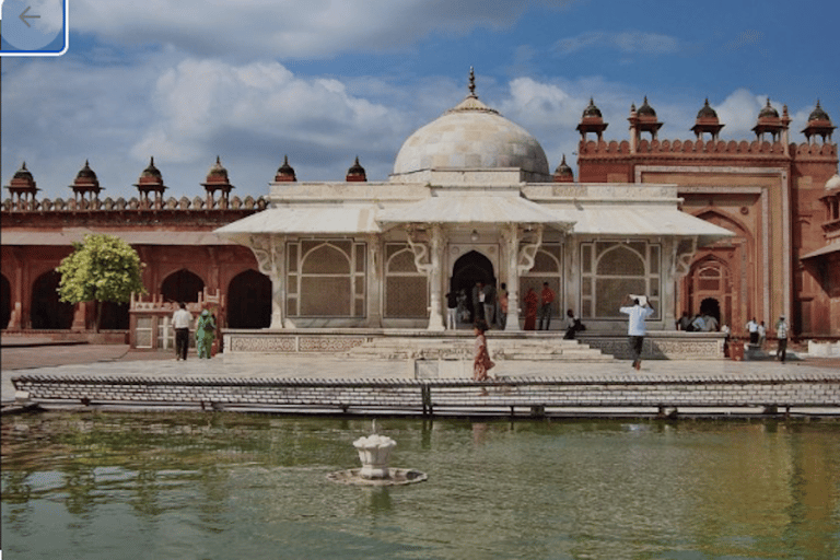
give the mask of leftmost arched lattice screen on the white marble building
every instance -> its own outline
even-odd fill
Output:
[[[290,317],[363,317],[365,244],[306,240],[287,246]]]

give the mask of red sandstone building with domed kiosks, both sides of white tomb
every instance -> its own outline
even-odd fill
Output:
[[[768,102],[754,128],[755,140],[723,141],[724,125],[707,102],[691,129],[695,140],[660,140],[662,122],[645,98],[630,110],[630,138],[605,141],[607,122],[591,103],[578,126],[579,180],[676,184],[685,212],[735,234],[695,254],[679,282],[678,310],[708,311],[736,335],[751,317],[772,327],[784,314],[802,338],[837,338],[840,176],[837,144],[831,143],[835,127],[817,104],[802,131],[805,142],[796,144],[790,142],[790,121],[786,108],[780,116]],[[296,180],[288,161],[275,180]],[[358,160],[345,180],[366,180]],[[574,180],[564,159],[555,180]],[[5,187],[11,198],[2,203],[0,325],[7,332],[90,330],[92,306],[58,301],[55,268],[72,242],[104,232],[139,252],[151,294],[195,302],[199,292],[217,293],[226,302],[223,326],[267,327],[271,282],[258,271],[252,250],[213,234],[267,202],[231,198],[234,187],[218,159],[201,185],[203,196],[192,200],[165,199],[166,186],[152,161],[135,185],[137,197],[101,200],[102,188],[85,163],[70,186],[71,199],[39,200],[23,164]],[[110,305],[103,315],[104,329],[125,331],[129,323],[126,305]]]

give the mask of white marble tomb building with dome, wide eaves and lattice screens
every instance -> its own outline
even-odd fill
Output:
[[[382,183],[276,183],[267,210],[217,230],[272,282],[271,329],[443,330],[445,294],[504,282],[506,329],[544,281],[555,328],[572,308],[618,332],[627,293],[670,329],[698,246],[731,235],[678,210],[675,185],[551,183],[539,142],[470,94],[415,132]]]

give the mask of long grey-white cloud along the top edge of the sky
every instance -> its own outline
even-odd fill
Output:
[[[431,33],[512,25],[534,4],[571,0],[73,0],[73,28],[120,45],[172,45],[194,55],[324,58],[398,50]]]

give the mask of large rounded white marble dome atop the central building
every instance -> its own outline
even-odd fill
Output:
[[[475,95],[408,137],[394,163],[395,175],[488,168],[549,175],[546,152],[537,139]]]

